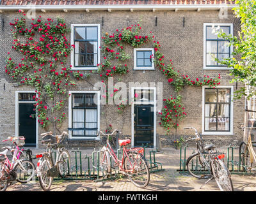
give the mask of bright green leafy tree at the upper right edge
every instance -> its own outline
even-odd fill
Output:
[[[232,56],[220,62],[231,69],[230,75],[234,78],[231,82],[242,82],[241,87],[235,92],[235,98],[247,96],[250,99],[256,94],[256,1],[238,0],[234,14],[241,21],[241,31],[238,36],[231,36],[220,31],[219,37],[230,41],[234,47]],[[216,61],[218,61],[216,59]],[[250,91],[246,91],[250,87]]]

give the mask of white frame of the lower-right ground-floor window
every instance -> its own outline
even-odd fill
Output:
[[[202,135],[234,135],[233,133],[233,111],[234,111],[234,87],[228,85],[220,85],[216,89],[230,89],[230,107],[229,107],[229,131],[205,131],[205,89],[209,89],[209,86],[204,85],[202,87]],[[218,102],[216,102],[217,104]]]

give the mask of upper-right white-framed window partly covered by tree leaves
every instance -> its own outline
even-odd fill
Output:
[[[204,69],[227,69],[227,66],[216,62],[223,61],[232,54],[229,41],[218,37],[218,31],[233,35],[233,24],[204,24]]]

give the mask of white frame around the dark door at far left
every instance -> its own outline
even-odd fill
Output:
[[[20,101],[19,93],[36,93],[35,91],[15,91],[15,136],[19,136],[19,103],[35,103],[33,101]],[[37,96],[37,93],[36,93]],[[36,115],[36,148],[38,148],[38,117]]]

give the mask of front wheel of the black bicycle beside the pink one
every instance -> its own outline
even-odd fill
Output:
[[[62,150],[58,161],[58,171],[61,177],[66,177],[68,175],[69,167],[70,155],[67,150]]]

